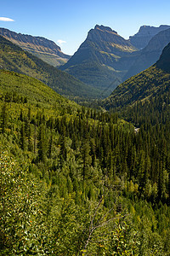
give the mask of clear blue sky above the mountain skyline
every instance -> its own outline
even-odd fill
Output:
[[[143,25],[170,25],[169,0],[2,0],[0,27],[53,40],[72,55],[96,24],[128,38]],[[6,17],[14,21],[3,21]]]

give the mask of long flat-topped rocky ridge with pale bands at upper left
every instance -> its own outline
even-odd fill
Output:
[[[6,28],[0,28],[0,35],[54,67],[65,64],[71,57],[65,55],[57,44],[47,38],[32,37]]]

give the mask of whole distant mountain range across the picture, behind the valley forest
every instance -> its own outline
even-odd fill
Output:
[[[170,26],[167,25],[141,26],[128,40],[108,26],[96,25],[71,57],[46,38],[4,28],[0,28],[0,34],[3,36],[0,38],[1,68],[40,79],[72,99],[109,96],[118,84],[153,65],[170,42]],[[10,44],[5,41],[7,38]],[[44,61],[53,66],[65,62],[59,67],[65,73]]]

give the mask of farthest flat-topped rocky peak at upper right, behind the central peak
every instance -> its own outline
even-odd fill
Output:
[[[139,32],[134,36],[129,37],[129,42],[138,49],[144,49],[144,47],[150,42],[157,33],[170,28],[167,25],[156,26],[140,26]]]

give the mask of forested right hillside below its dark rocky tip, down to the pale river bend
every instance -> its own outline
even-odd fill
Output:
[[[167,67],[167,66],[166,66]],[[135,125],[167,122],[170,117],[170,73],[156,65],[127,79],[103,102]]]

